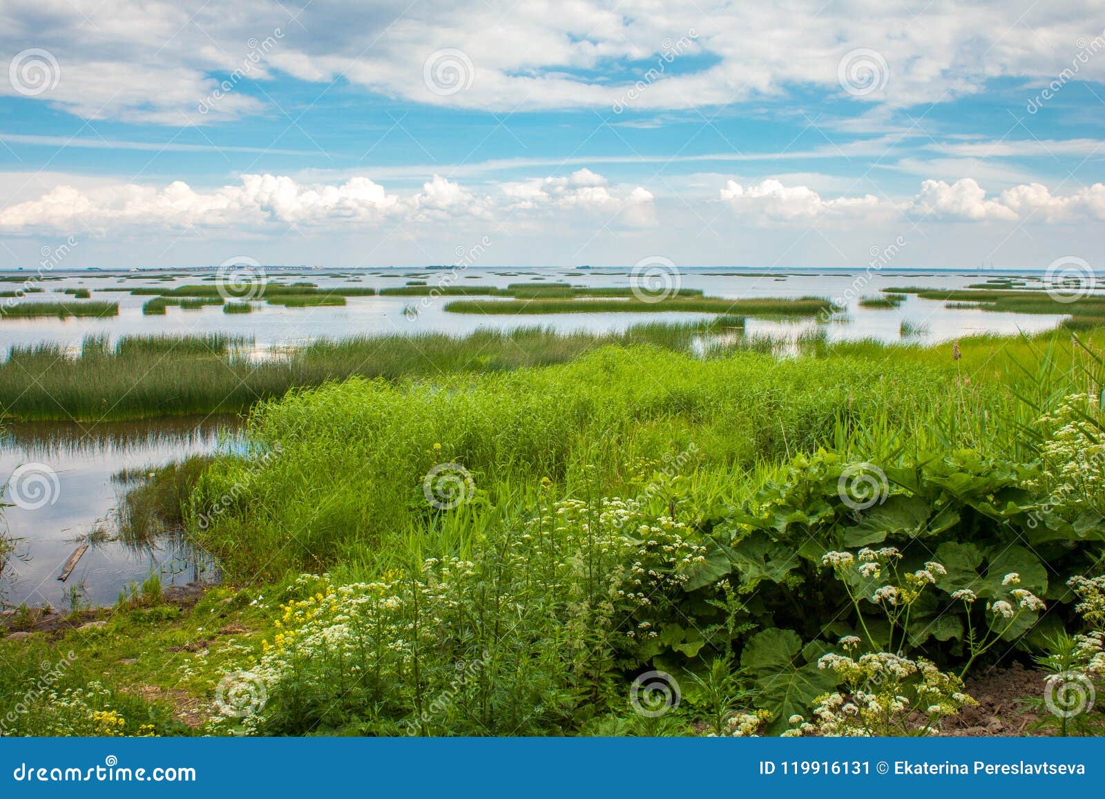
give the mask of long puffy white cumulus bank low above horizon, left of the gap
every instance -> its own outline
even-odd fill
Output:
[[[287,176],[244,175],[236,185],[209,191],[180,180],[165,188],[119,183],[78,189],[62,183],[0,210],[0,230],[418,223],[457,217],[494,219],[496,213],[528,210],[578,210],[599,218],[607,213],[625,224],[644,224],[652,219],[651,206],[652,195],[645,189],[610,187],[588,169],[566,178],[504,185],[502,192],[483,196],[439,175],[407,196],[390,193],[364,176],[343,183],[302,183]]]

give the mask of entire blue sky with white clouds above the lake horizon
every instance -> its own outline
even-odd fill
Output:
[[[1105,269],[1099,0],[6,0],[0,269]]]

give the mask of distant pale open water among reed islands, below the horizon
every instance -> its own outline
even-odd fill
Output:
[[[535,284],[568,282],[586,286],[628,286],[629,270],[589,270],[577,273],[572,270],[548,269],[527,270],[511,273],[504,269],[463,270],[390,270],[383,276],[380,271],[357,272],[359,281],[333,276],[332,273],[311,270],[294,273],[270,271],[269,278],[284,282],[308,281],[319,287],[349,285],[382,288],[401,286],[409,280],[424,280],[429,285],[438,285],[445,278],[446,285],[493,284],[506,286],[509,283],[533,282]],[[902,322],[922,328],[922,333],[909,340],[935,343],[961,338],[978,333],[1012,334],[1018,330],[1035,333],[1056,326],[1062,315],[1008,314],[988,311],[950,309],[944,303],[909,296],[897,308],[861,308],[859,299],[878,296],[884,287],[917,285],[933,288],[960,288],[970,283],[979,283],[999,273],[986,271],[975,273],[917,273],[884,270],[871,275],[844,271],[788,271],[772,276],[748,276],[734,274],[741,270],[717,267],[691,267],[680,272],[678,285],[683,288],[701,288],[708,296],[733,299],[750,297],[799,297],[820,296],[841,302],[848,307],[842,320],[823,325],[830,340],[874,337],[885,341],[902,338]],[[747,272],[747,271],[745,271]],[[351,274],[344,271],[343,274]],[[119,303],[119,315],[105,319],[93,318],[0,318],[0,357],[6,357],[12,345],[32,345],[52,341],[80,347],[81,339],[88,334],[104,335],[114,340],[119,336],[136,334],[206,334],[230,333],[253,337],[259,350],[305,344],[319,337],[341,338],[372,334],[449,333],[466,334],[477,328],[511,329],[515,327],[543,326],[560,330],[604,330],[619,332],[642,322],[691,322],[709,318],[709,314],[643,313],[643,314],[525,314],[518,316],[452,314],[443,306],[457,297],[347,297],[344,307],[287,308],[260,303],[251,314],[224,314],[219,306],[207,306],[198,311],[182,311],[169,307],[165,316],[144,316],[143,304],[148,296],[131,296],[123,292],[104,292],[103,288],[117,287],[172,287],[189,283],[203,283],[210,272],[197,272],[171,281],[156,281],[146,277],[134,278],[126,273],[56,273],[62,280],[42,282],[36,285],[42,293],[28,296],[28,301],[57,299],[55,292],[64,288],[83,287],[92,291],[93,299]],[[283,277],[283,275],[288,275]],[[448,275],[448,277],[446,277]],[[540,277],[541,280],[537,280]],[[856,283],[860,283],[856,286]],[[12,290],[19,284],[0,283],[0,288]],[[403,313],[407,306],[415,306],[418,315],[411,318]],[[749,318],[749,333],[798,335],[814,329],[817,322],[801,319],[780,322]]]

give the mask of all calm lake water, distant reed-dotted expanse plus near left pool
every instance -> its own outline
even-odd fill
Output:
[[[453,272],[452,285],[567,282],[587,286],[629,286],[628,269],[596,270],[266,270],[270,280],[285,283],[309,281],[327,286],[401,286],[408,281],[439,285],[445,273]],[[896,308],[863,308],[862,297],[878,296],[891,286],[958,288],[980,283],[1002,273],[894,272],[883,270],[870,275],[845,271],[787,270],[769,276],[750,269],[683,269],[678,285],[701,288],[708,296],[727,298],[821,296],[846,306],[845,313],[829,324],[815,319],[747,320],[747,334],[794,337],[819,327],[830,339],[903,339],[903,323],[912,326],[906,340],[936,343],[979,333],[1036,333],[1053,328],[1062,315],[993,313],[976,309],[950,309],[943,302],[909,296]],[[688,322],[708,318],[706,314],[551,314],[551,315],[470,315],[443,309],[448,297],[348,297],[344,307],[286,308],[259,303],[251,314],[224,314],[221,307],[199,311],[167,308],[165,316],[144,316],[141,306],[148,296],[131,296],[122,291],[136,287],[173,287],[203,283],[212,271],[166,271],[169,280],[151,273],[55,272],[34,285],[42,288],[27,301],[62,298],[65,288],[87,288],[93,299],[118,302],[119,315],[91,318],[0,318],[0,359],[12,346],[42,343],[60,344],[77,351],[86,335],[120,336],[143,334],[229,333],[252,337],[254,355],[266,357],[271,350],[306,344],[320,337],[343,338],[372,334],[415,334],[441,332],[466,334],[481,327],[511,329],[541,326],[559,330],[617,332],[642,322]],[[1009,273],[1006,273],[1009,274]],[[862,276],[861,276],[862,275]],[[859,277],[859,281],[857,281]],[[208,281],[209,282],[209,281]],[[0,282],[0,290],[11,291],[19,283]],[[1030,285],[1031,287],[1031,285]],[[21,302],[8,298],[2,303]],[[413,317],[404,308],[414,305]],[[8,533],[18,538],[19,558],[10,561],[0,578],[0,602],[18,606],[52,604],[67,607],[75,588],[80,600],[110,604],[127,585],[158,574],[166,585],[218,579],[218,569],[202,553],[168,536],[143,549],[114,540],[118,507],[126,484],[118,479],[124,470],[148,470],[191,454],[229,446],[234,424],[228,420],[172,419],[110,424],[14,424],[6,425],[0,438],[0,475],[22,469],[24,475],[40,469],[45,475],[42,487],[49,500],[36,507],[4,508]],[[45,466],[44,470],[41,467]],[[31,485],[31,483],[25,483]],[[3,500],[12,502],[12,485],[6,486]],[[38,501],[22,505],[38,505]],[[63,565],[90,534],[96,540],[77,563],[65,582],[57,579]]]

